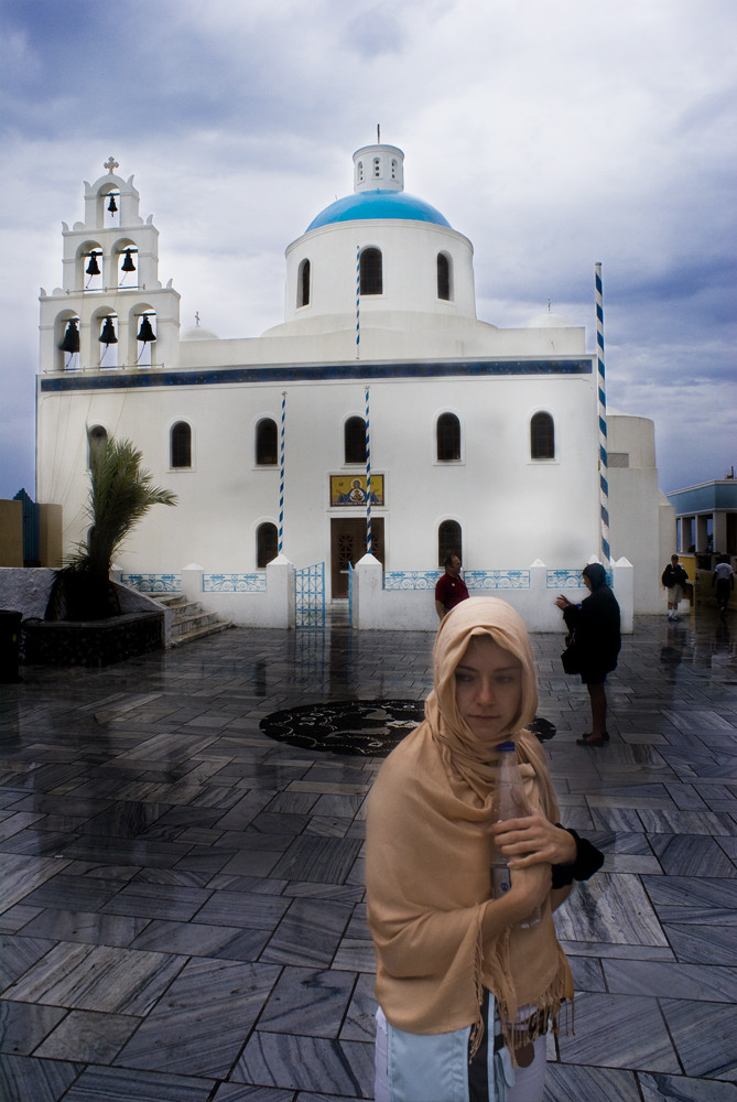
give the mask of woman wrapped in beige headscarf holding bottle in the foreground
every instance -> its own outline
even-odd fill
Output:
[[[464,601],[442,622],[433,662],[425,720],[387,758],[368,803],[376,1098],[535,1102],[545,1034],[573,997],[552,910],[595,868],[578,867],[583,840],[554,825],[545,755],[524,730],[538,695],[519,615],[496,598]],[[509,739],[531,814],[494,825],[497,747]],[[499,899],[495,844],[513,868]],[[525,922],[538,907],[540,921]]]

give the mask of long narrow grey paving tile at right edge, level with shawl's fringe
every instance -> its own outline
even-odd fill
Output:
[[[614,994],[719,1003],[734,1002],[737,995],[737,965],[719,968],[707,964],[613,960],[605,960],[603,965],[607,990]]]

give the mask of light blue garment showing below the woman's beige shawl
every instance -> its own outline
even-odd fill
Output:
[[[506,1048],[494,1051],[494,996],[489,997],[488,1078],[489,1102],[506,1102],[514,1083],[514,1068]],[[488,1029],[488,1022],[485,1023]],[[383,1059],[386,1034],[386,1077]],[[445,1034],[408,1034],[395,1029],[377,1011],[377,1100],[386,1102],[469,1102],[468,1038],[470,1026]],[[381,1055],[380,1055],[381,1054]],[[379,1090],[381,1083],[384,1090]],[[381,1099],[381,1102],[384,1102]]]

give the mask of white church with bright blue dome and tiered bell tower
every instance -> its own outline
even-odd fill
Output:
[[[237,339],[181,328],[133,176],[110,158],[85,183],[62,287],[40,300],[37,500],[62,505],[65,551],[88,522],[89,430],[130,437],[178,497],[122,555],[142,588],[185,568],[237,579],[324,563],[339,602],[367,551],[382,592],[426,590],[456,552],[472,593],[523,606],[531,569],[560,588],[606,561],[604,515],[631,609],[660,611],[674,514],[652,422],[604,411],[583,326],[477,318],[473,245],[404,191],[403,161],[380,143],[354,154],[353,193],[286,247],[283,323]]]

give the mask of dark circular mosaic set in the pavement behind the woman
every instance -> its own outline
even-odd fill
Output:
[[[343,700],[272,712],[259,726],[269,738],[290,746],[387,757],[424,714],[423,700]],[[553,724],[540,716],[530,731],[541,742],[555,734]]]

